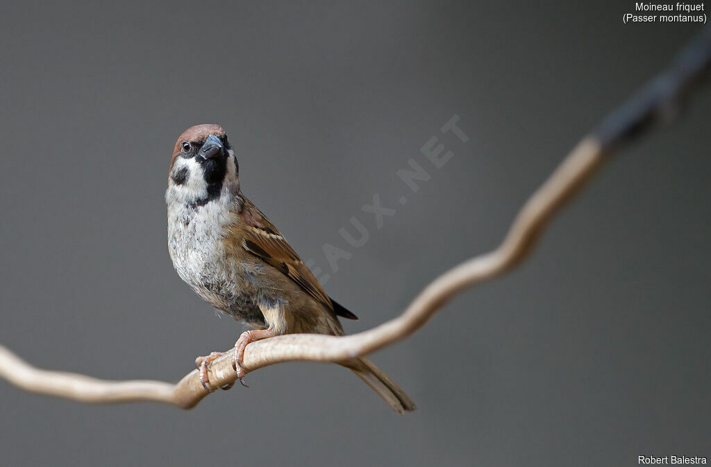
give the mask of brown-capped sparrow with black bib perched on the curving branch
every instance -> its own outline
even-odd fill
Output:
[[[250,342],[290,333],[341,336],[338,316],[357,318],[326,295],[286,238],[242,194],[239,174],[223,128],[188,128],[173,149],[166,204],[168,247],[178,275],[220,312],[254,328],[235,343],[233,365],[242,382]],[[220,355],[196,359],[206,390],[208,366]],[[415,410],[410,397],[368,358],[343,366],[395,412]]]

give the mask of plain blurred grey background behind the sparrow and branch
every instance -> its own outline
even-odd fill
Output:
[[[632,1],[115,2],[0,18],[0,342],[45,368],[176,381],[229,348],[174,273],[163,194],[175,138],[223,125],[242,188],[326,282],[395,317],[496,246],[520,204],[694,24]],[[348,371],[290,363],[191,412],[80,405],[0,381],[6,466],[601,466],[711,456],[711,97],[604,167],[518,270],[373,356],[397,417]],[[439,128],[454,114],[470,140]],[[454,156],[419,153],[438,136]],[[413,158],[432,179],[413,194]],[[397,209],[382,229],[360,211]],[[407,195],[405,205],[398,203]],[[338,235],[356,216],[370,238]],[[351,228],[351,231],[354,231]],[[322,273],[323,274],[323,273]]]

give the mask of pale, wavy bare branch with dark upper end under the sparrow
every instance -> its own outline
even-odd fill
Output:
[[[538,234],[563,204],[574,195],[605,158],[621,143],[641,136],[658,123],[679,114],[683,97],[711,67],[711,26],[682,50],[663,73],[634,94],[584,138],[555,172],[525,203],[498,248],[468,260],[430,283],[404,313],[373,329],[350,336],[289,334],[247,346],[243,366],[247,372],[284,361],[343,362],[389,346],[413,334],[457,293],[505,273],[530,253]],[[67,397],[80,402],[167,402],[184,409],[194,407],[209,392],[198,370],[176,385],[160,381],[107,381],[75,373],[39,370],[0,346],[0,376],[31,392]],[[213,389],[235,383],[237,374],[229,355],[210,366]]]

